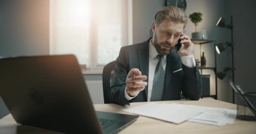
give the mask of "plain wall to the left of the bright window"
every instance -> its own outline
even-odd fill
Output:
[[[49,0],[0,0],[0,57],[48,54],[48,42]],[[8,113],[0,98],[0,118]]]

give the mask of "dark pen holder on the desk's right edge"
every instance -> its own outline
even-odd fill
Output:
[[[237,95],[237,118],[247,121],[256,121],[256,115],[253,114],[248,104],[240,94]],[[251,101],[253,106],[256,106],[256,93],[244,92],[244,95]]]

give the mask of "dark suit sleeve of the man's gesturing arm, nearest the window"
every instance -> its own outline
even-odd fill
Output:
[[[126,87],[125,81],[129,69],[127,55],[123,47],[120,49],[114,71],[114,77],[112,78],[110,83],[109,101],[118,105],[129,105],[129,101],[125,98],[124,94]]]

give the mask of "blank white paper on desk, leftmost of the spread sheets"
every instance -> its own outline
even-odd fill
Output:
[[[134,106],[131,108],[124,108],[123,111],[129,113],[139,114],[141,116],[147,116],[163,121],[173,122],[176,124],[182,123],[202,113],[195,110],[184,110],[178,106],[172,104],[159,104],[148,103],[141,106]]]

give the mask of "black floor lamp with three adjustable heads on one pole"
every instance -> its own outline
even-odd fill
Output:
[[[232,70],[232,82],[235,83],[235,67],[234,67],[234,46],[233,44],[233,19],[231,15],[231,22],[230,24],[226,23],[226,20],[224,18],[219,18],[219,21],[217,22],[216,26],[221,27],[221,28],[228,28],[231,30],[231,43],[230,42],[225,42],[225,43],[219,43],[216,44],[216,51],[218,54],[223,52],[227,47],[231,47],[232,49],[232,68],[225,67],[224,70],[217,72],[217,77],[219,77],[221,80],[224,79],[227,71]],[[232,90],[232,99],[233,103],[235,103],[235,95],[234,95],[234,90]]]

